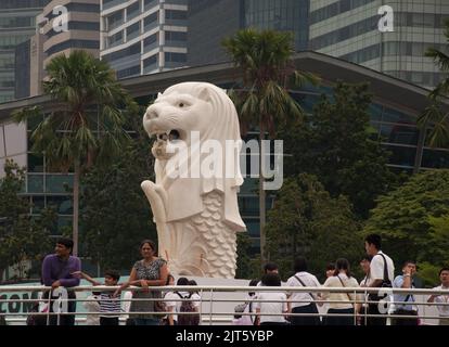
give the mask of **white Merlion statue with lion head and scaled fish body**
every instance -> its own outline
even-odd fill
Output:
[[[172,273],[234,278],[243,183],[240,127],[226,92],[206,82],[168,88],[143,116],[156,136],[156,182],[142,182],[157,227],[159,255]]]

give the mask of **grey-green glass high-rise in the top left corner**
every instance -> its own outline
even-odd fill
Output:
[[[27,41],[36,31],[36,16],[50,0],[0,1],[0,103],[15,98],[16,47]],[[24,47],[21,47],[20,50]],[[21,55],[26,59],[26,55]],[[20,59],[18,63],[23,61]],[[18,78],[16,78],[18,77]]]

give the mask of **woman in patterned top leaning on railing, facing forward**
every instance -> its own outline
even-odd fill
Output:
[[[144,240],[140,244],[140,253],[142,260],[136,261],[132,267],[131,274],[127,283],[124,283],[116,292],[117,294],[130,285],[142,287],[141,291],[136,291],[132,295],[133,299],[150,300],[133,300],[130,308],[130,318],[134,320],[136,325],[157,325],[161,317],[157,314],[144,313],[156,311],[154,298],[161,298],[161,291],[149,291],[149,286],[162,286],[167,283],[168,269],[167,262],[156,257],[156,246],[153,241]],[[132,312],[142,312],[134,313]]]

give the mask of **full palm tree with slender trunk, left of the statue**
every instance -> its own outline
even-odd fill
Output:
[[[47,65],[46,94],[56,101],[57,111],[41,117],[38,107],[14,112],[16,123],[39,116],[31,133],[36,153],[43,153],[51,170],[74,172],[73,239],[78,255],[79,179],[84,170],[106,164],[129,139],[120,107],[131,102],[107,63],[86,51],[57,55]]]

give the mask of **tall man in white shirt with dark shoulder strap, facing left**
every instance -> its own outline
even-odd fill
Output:
[[[364,239],[364,249],[373,259],[370,264],[370,280],[368,287],[387,288],[392,287],[395,277],[395,265],[390,257],[381,250],[382,237],[377,234],[370,234]],[[382,314],[383,317],[372,317],[368,319],[367,325],[386,325],[386,314],[388,313],[389,297],[384,293],[371,293],[368,306],[369,314]],[[385,307],[385,303],[387,304]]]

